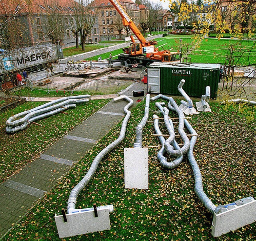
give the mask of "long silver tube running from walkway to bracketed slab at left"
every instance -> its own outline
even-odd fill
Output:
[[[90,182],[90,180],[91,180],[92,176],[94,175],[94,173],[96,172],[98,165],[99,165],[100,161],[102,160],[102,158],[106,154],[108,154],[111,150],[113,150],[116,146],[118,146],[118,144],[120,144],[122,142],[122,140],[124,140],[126,126],[127,126],[128,120],[131,116],[131,112],[128,109],[133,105],[133,100],[127,96],[122,95],[120,97],[114,98],[113,101],[119,101],[122,99],[125,99],[129,103],[124,107],[124,113],[126,113],[126,116],[124,117],[124,120],[122,122],[120,135],[114,142],[112,142],[111,144],[106,146],[95,157],[95,159],[92,162],[92,165],[90,166],[90,168],[89,168],[88,172],[86,173],[86,175],[84,176],[84,178],[72,189],[72,191],[70,192],[69,198],[68,198],[68,213],[72,213],[75,210],[78,210],[78,209],[76,209],[77,196],[82,191],[82,189]]]

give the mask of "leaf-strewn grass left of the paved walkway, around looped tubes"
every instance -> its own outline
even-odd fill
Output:
[[[7,134],[5,132],[6,120],[15,114],[32,109],[43,103],[26,102],[14,109],[0,113],[0,182],[12,176],[14,172],[27,163],[35,160],[42,151],[46,150],[61,136],[64,136],[75,126],[90,117],[108,103],[108,101],[110,100],[94,100],[89,101],[88,104],[77,104],[75,109],[68,109],[66,111],[68,115],[58,113],[57,115],[36,121],[42,124],[42,126],[30,124],[25,130],[16,132],[15,134]]]

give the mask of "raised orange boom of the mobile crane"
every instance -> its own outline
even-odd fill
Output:
[[[109,0],[112,5],[114,6],[114,8],[116,9],[116,11],[120,14],[120,16],[122,17],[122,21],[124,26],[128,27],[132,30],[132,32],[135,34],[135,36],[137,37],[137,39],[140,41],[140,43],[142,44],[142,46],[149,46],[149,45],[154,45],[154,43],[152,43],[151,41],[146,41],[146,39],[144,38],[144,36],[142,35],[142,33],[140,32],[140,30],[138,30],[137,26],[134,24],[134,22],[132,21],[132,19],[129,17],[129,15],[126,13],[126,11],[124,10],[124,8],[121,6],[121,4],[118,2],[118,0]],[[131,36],[131,40],[133,43],[135,43],[134,38]]]

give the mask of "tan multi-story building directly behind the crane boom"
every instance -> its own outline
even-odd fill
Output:
[[[120,0],[119,3],[124,10],[126,10],[134,23],[139,26],[141,10],[138,4],[132,2],[132,0]],[[120,37],[124,39],[126,30],[123,27],[122,19],[110,1],[94,0],[92,4],[97,6],[98,26],[101,40],[119,39]],[[120,33],[118,30],[120,30]]]

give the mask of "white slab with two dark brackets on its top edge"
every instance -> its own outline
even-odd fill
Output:
[[[66,214],[67,222],[64,222],[62,215],[55,214],[55,222],[60,239],[94,233],[97,231],[110,230],[110,219],[108,207],[97,209],[98,217],[95,217],[94,210]]]

